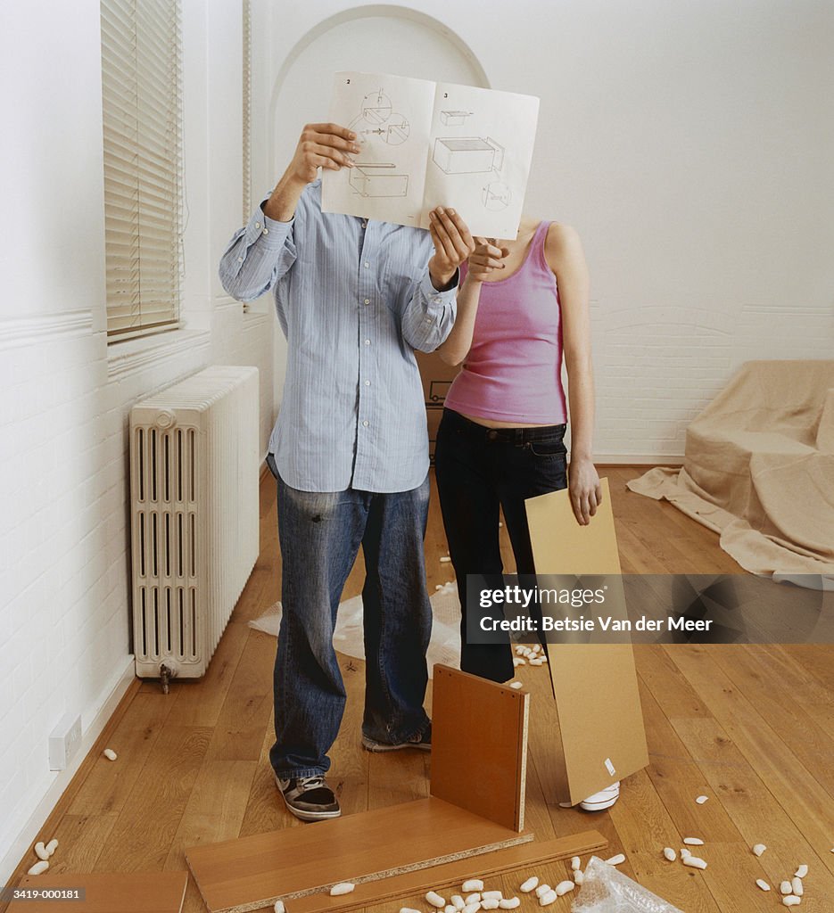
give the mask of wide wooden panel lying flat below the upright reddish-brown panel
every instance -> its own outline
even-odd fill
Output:
[[[533,839],[431,797],[185,850],[212,913],[259,909]]]

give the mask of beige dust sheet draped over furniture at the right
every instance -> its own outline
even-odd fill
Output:
[[[747,362],[686,432],[678,469],[628,483],[757,574],[834,574],[834,361]]]

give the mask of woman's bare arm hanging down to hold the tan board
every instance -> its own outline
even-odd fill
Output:
[[[594,467],[594,366],[591,362],[590,280],[582,243],[569,226],[552,225],[545,257],[553,269],[562,306],[562,345],[568,381],[571,461],[568,473],[576,522],[585,526],[602,503]]]

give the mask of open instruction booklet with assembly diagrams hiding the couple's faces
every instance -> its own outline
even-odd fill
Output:
[[[323,169],[322,210],[428,228],[452,206],[473,235],[518,234],[539,100],[379,73],[337,73],[330,120],[356,133],[354,168]]]

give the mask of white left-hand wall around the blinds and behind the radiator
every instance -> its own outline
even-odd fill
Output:
[[[132,677],[130,406],[246,363],[264,449],[272,423],[271,317],[216,278],[241,224],[240,3],[184,3],[185,329],[110,347],[99,16],[98,0],[39,0],[5,5],[0,27],[0,884],[69,782],[48,733],[80,714],[89,744]]]

